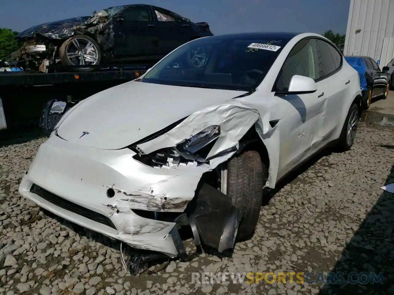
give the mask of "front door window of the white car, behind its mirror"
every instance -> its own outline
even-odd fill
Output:
[[[288,91],[290,80],[294,75],[319,79],[316,39],[302,40],[293,47],[279,73],[276,90]]]

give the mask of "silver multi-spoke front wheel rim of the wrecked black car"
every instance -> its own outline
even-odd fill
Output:
[[[99,61],[98,48],[83,37],[72,39],[67,45],[66,54],[72,65],[96,65]]]

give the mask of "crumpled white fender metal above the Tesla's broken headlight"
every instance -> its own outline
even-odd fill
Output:
[[[209,159],[233,147],[238,149],[239,140],[256,123],[258,118],[260,118],[260,114],[256,109],[247,107],[238,101],[229,101],[197,111],[164,135],[139,144],[137,147],[143,153],[149,154],[165,147],[174,147],[206,127],[220,125],[221,134],[206,157]],[[211,159],[210,169],[216,168],[217,165],[229,159],[234,152]]]

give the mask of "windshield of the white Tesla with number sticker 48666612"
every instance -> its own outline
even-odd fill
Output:
[[[290,39],[213,36],[181,46],[156,64],[142,82],[251,91]]]

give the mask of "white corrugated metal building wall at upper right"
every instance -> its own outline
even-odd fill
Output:
[[[394,0],[350,0],[344,55],[377,61],[387,37],[394,37]]]

